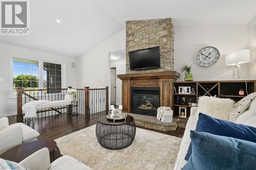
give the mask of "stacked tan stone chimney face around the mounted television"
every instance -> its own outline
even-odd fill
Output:
[[[160,46],[158,69],[130,70],[129,52]],[[174,26],[171,18],[126,21],[126,74],[174,70]]]

